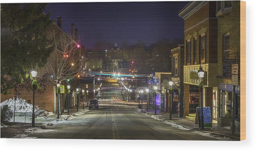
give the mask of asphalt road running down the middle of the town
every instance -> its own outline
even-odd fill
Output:
[[[99,110],[55,124],[55,131],[33,133],[29,137],[46,139],[144,139],[144,140],[217,140],[171,125],[139,112],[122,101],[121,88],[105,83]]]

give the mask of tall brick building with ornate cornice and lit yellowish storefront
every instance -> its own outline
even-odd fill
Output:
[[[212,91],[218,86],[216,1],[189,2],[178,14],[184,19],[184,117],[200,106],[200,65],[205,71],[201,100],[212,112]]]

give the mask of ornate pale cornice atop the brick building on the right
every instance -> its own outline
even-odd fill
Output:
[[[207,3],[208,1],[189,2],[181,11],[178,12],[178,15],[185,20]]]

